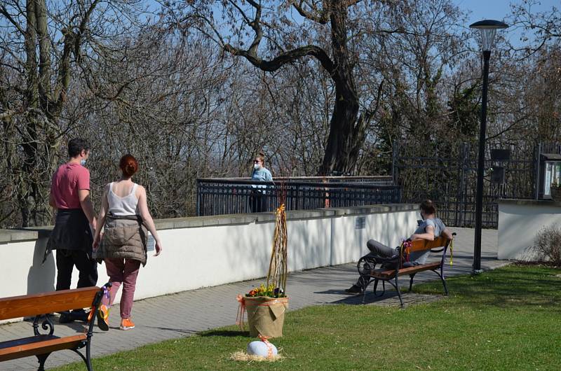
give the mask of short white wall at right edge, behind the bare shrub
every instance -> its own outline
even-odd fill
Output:
[[[548,225],[561,225],[561,203],[549,201],[499,201],[497,258],[536,261],[534,240]]]

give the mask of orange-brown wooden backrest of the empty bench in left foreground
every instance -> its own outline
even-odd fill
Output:
[[[36,316],[68,309],[89,308],[98,287],[75,288],[0,299],[0,320]]]

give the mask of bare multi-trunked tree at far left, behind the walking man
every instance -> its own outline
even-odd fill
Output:
[[[8,0],[0,4],[0,66],[6,169],[20,225],[45,223],[48,183],[60,141],[69,87],[97,45],[128,29],[139,1]],[[111,25],[107,20],[112,20]]]

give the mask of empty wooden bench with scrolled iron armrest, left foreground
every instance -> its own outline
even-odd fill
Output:
[[[106,286],[109,288],[111,283],[107,283]],[[58,337],[53,335],[55,327],[48,314],[75,308],[91,308],[95,314],[95,308],[99,306],[103,293],[103,288],[94,286],[0,299],[0,320],[35,316],[34,336],[0,342],[0,362],[36,356],[39,360],[39,370],[44,370],[45,360],[50,353],[69,349],[78,353],[86,363],[88,370],[92,370],[90,345],[96,316],[90,316],[83,333]],[[39,325],[43,331],[48,331],[48,333],[41,334]],[[86,356],[78,351],[84,346]]]

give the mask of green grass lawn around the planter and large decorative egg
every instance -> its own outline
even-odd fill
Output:
[[[93,360],[95,370],[560,370],[561,269],[508,266],[447,280],[450,297],[398,307],[331,304],[290,311],[274,363],[230,360],[236,326]],[[414,286],[441,295],[436,281]],[[94,339],[95,341],[95,339]],[[56,370],[83,370],[75,363]]]

